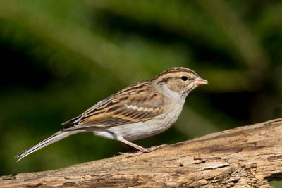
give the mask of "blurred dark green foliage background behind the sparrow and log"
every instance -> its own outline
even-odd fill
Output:
[[[168,131],[174,143],[281,117],[281,1],[0,1],[1,175],[50,170],[126,151],[77,134],[13,156],[128,84],[173,66],[209,80]]]

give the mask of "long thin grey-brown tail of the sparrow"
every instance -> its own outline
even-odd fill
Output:
[[[35,146],[32,146],[31,148],[23,151],[22,153],[19,153],[17,156],[15,156],[17,162],[20,161],[20,159],[24,158],[25,156],[28,156],[30,153],[33,153],[39,149],[42,149],[44,146],[48,146],[49,144],[53,144],[54,142],[57,142],[61,139],[64,139],[68,136],[71,136],[72,134],[76,134],[78,132],[81,132],[82,130],[76,130],[76,131],[59,131],[53,134],[51,137],[48,137],[47,139],[44,139],[42,142],[39,142]]]

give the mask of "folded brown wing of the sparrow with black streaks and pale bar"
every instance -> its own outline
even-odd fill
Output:
[[[151,84],[142,82],[99,102],[74,118],[66,127],[109,127],[128,123],[145,122],[163,112],[164,96]]]

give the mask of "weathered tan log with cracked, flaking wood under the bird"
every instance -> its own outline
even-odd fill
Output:
[[[271,187],[282,180],[282,118],[58,170],[0,177],[0,187]]]

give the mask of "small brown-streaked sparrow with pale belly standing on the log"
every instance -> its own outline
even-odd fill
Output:
[[[180,115],[186,96],[202,84],[208,84],[195,71],[169,68],[151,80],[137,82],[99,101],[77,117],[63,123],[62,130],[15,156],[20,161],[30,153],[73,134],[92,132],[133,147],[140,153],[158,149],[144,148],[133,141],[168,130]]]

